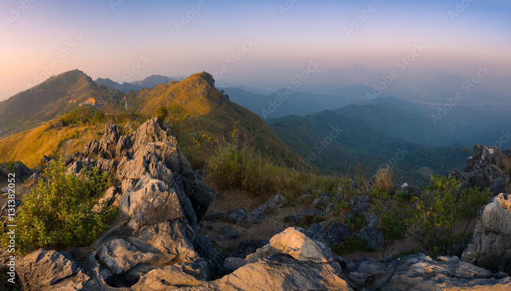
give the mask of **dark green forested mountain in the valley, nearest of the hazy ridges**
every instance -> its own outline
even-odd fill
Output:
[[[357,163],[374,173],[390,164],[403,179],[424,185],[430,175],[444,173],[440,163],[453,162],[459,168],[467,159],[460,147],[428,148],[330,110],[272,118],[268,123],[288,146],[323,173],[348,173]]]

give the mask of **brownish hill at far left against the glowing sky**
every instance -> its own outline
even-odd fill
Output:
[[[82,71],[67,71],[0,102],[0,127],[9,129],[50,120],[80,102],[90,98],[104,102],[106,96],[113,94]]]

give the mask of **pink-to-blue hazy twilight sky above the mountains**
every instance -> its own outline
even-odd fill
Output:
[[[511,77],[510,15],[504,0],[2,0],[0,100],[76,68],[94,80],[205,70],[243,82],[311,60],[388,69],[416,45],[417,68],[487,64]]]

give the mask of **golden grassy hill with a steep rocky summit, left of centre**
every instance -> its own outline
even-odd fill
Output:
[[[287,147],[261,117],[224,98],[206,72],[141,90],[135,103],[147,116],[154,116],[160,106],[169,109],[168,119],[180,146],[192,159],[199,158],[196,165],[213,153],[215,144],[233,141],[231,133],[235,129],[240,143],[248,142],[289,166],[303,164],[303,158]]]

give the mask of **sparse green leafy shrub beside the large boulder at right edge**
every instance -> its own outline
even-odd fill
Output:
[[[410,208],[407,222],[412,235],[423,243],[429,255],[454,255],[470,236],[467,227],[477,210],[486,204],[492,193],[485,189],[460,190],[459,180],[432,176],[429,192],[421,197],[416,207]],[[455,231],[464,224],[464,230]]]

